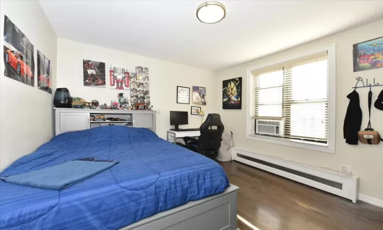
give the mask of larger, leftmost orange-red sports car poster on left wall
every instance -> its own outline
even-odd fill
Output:
[[[34,47],[5,15],[4,16],[4,76],[34,87]]]

